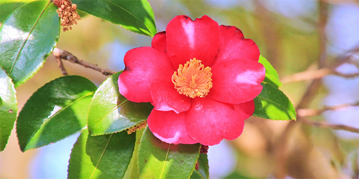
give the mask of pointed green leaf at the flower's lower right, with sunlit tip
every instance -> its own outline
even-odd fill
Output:
[[[254,98],[253,116],[272,120],[295,120],[295,108],[288,97],[269,83],[261,84],[262,92]]]

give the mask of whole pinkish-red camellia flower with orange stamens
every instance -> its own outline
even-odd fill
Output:
[[[180,15],[151,46],[126,53],[118,87],[128,100],[154,106],[148,116],[153,135],[167,143],[203,145],[240,136],[265,78],[253,40],[206,15]]]

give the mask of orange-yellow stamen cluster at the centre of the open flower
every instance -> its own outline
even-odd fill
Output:
[[[193,58],[185,65],[179,65],[177,72],[172,75],[172,82],[179,94],[191,98],[204,98],[213,86],[211,77],[211,68],[209,66],[205,68],[205,65],[201,64],[201,60]]]

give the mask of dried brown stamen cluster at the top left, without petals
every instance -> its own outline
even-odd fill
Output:
[[[58,1],[58,0],[57,0]],[[58,9],[56,10],[59,17],[61,17],[61,26],[64,27],[64,32],[72,29],[72,25],[77,25],[77,20],[81,19],[77,14],[76,4],[72,4],[69,0],[59,0],[55,5],[57,5]],[[55,1],[54,1],[55,3]]]

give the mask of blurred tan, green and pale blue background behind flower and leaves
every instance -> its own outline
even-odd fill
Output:
[[[208,15],[220,25],[240,28],[278,71],[282,91],[297,108],[297,122],[251,117],[238,139],[210,146],[211,178],[358,178],[359,134],[340,130],[359,128],[358,1],[149,2],[157,32],[181,14]],[[79,59],[121,71],[128,50],[151,44],[151,37],[80,15],[78,25],[61,32],[57,44]],[[68,61],[64,66],[70,75],[96,85],[107,78]],[[18,109],[37,88],[60,76],[51,55],[16,89]],[[0,153],[0,178],[66,178],[77,136],[22,153],[13,130]]]

